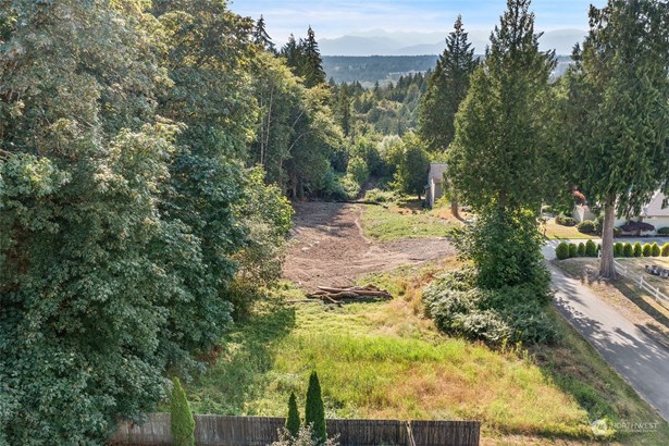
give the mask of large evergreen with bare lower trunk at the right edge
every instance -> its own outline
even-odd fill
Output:
[[[614,224],[669,193],[669,12],[661,1],[610,0],[591,7],[590,34],[565,78],[559,140],[569,172],[604,208],[599,273],[616,276]]]

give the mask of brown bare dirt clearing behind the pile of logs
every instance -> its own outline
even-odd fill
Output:
[[[313,290],[319,285],[349,286],[356,277],[419,264],[455,253],[446,238],[406,238],[376,243],[364,237],[361,205],[295,205],[295,228],[284,277]]]

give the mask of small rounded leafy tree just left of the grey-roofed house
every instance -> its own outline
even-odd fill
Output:
[[[401,151],[395,156],[394,186],[405,194],[421,195],[428,182],[430,158],[421,139],[408,133],[401,139]]]

